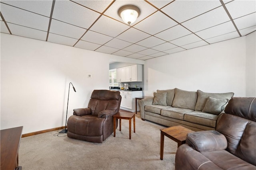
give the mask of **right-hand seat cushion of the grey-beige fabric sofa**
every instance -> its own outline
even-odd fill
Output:
[[[202,111],[192,111],[184,115],[185,121],[197,123],[200,125],[205,125],[208,127],[216,127],[217,119],[218,119],[218,115],[205,113]]]

